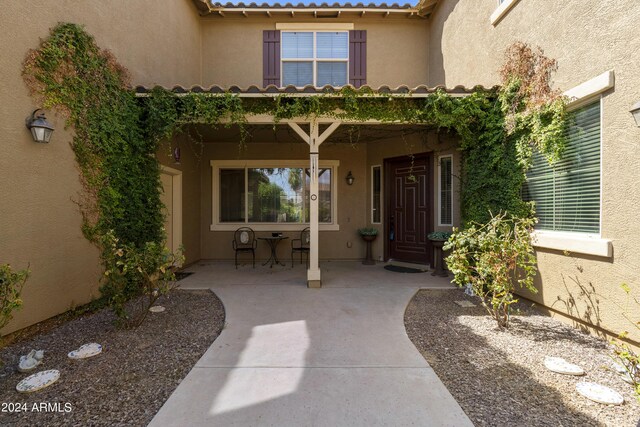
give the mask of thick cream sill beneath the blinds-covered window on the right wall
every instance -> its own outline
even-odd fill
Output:
[[[611,240],[580,233],[562,233],[553,231],[535,231],[532,234],[533,246],[543,249],[568,251],[578,254],[595,255],[605,258],[613,256]]]

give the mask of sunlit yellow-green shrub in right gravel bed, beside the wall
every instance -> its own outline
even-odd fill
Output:
[[[534,224],[533,218],[492,215],[486,224],[454,228],[444,245],[451,251],[446,262],[454,283],[470,285],[501,328],[509,326],[510,306],[518,301],[513,296],[516,284],[537,292],[533,286],[536,257],[531,245]]]

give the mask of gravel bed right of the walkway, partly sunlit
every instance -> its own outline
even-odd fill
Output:
[[[462,308],[468,300],[477,307]],[[461,290],[422,290],[405,313],[407,334],[477,426],[640,426],[632,388],[611,369],[607,342],[519,303],[509,330],[498,330],[476,298]],[[582,377],[544,367],[546,355],[581,366]],[[575,386],[613,388],[621,406],[592,402]]]

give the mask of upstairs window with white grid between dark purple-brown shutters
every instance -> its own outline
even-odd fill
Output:
[[[348,81],[347,31],[283,31],[282,85],[344,86]]]

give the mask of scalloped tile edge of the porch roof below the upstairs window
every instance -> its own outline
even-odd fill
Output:
[[[431,95],[437,91],[444,91],[452,96],[466,96],[470,95],[475,91],[495,91],[498,86],[493,86],[490,88],[485,88],[482,85],[477,85],[474,87],[465,87],[465,86],[455,86],[453,88],[447,88],[445,86],[435,86],[428,87],[425,85],[416,86],[414,88],[410,88],[408,86],[398,86],[396,88],[391,88],[389,86],[379,86],[378,88],[371,88],[369,86],[363,86],[359,90],[365,93],[362,94],[363,97],[375,97],[375,96],[398,96],[398,97],[426,97]],[[262,97],[262,96],[278,96],[278,95],[291,95],[291,96],[312,96],[312,95],[328,95],[328,96],[341,96],[340,88],[336,88],[333,86],[324,86],[324,87],[315,87],[315,86],[305,86],[302,88],[297,88],[295,86],[286,86],[286,87],[277,87],[274,85],[269,85],[267,87],[258,87],[256,85],[249,86],[247,88],[242,88],[240,86],[229,86],[229,87],[221,87],[218,85],[209,86],[203,88],[202,86],[195,85],[190,88],[185,88],[183,86],[173,86],[172,88],[165,88],[167,90],[172,91],[176,94],[187,94],[187,93],[210,93],[210,94],[224,94],[224,93],[234,93],[238,94],[240,97]],[[144,96],[145,94],[150,93],[152,90],[151,87],[145,86],[136,86],[135,91],[138,95]],[[371,93],[366,93],[367,90],[370,90]]]

